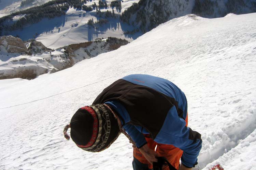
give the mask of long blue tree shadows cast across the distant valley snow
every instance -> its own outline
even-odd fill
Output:
[[[90,16],[88,16],[90,15]],[[11,32],[5,31],[3,35],[12,35],[12,36],[18,36],[22,40],[28,40],[31,38],[36,38],[40,34],[51,34],[59,32],[62,27],[65,26],[66,22],[70,19],[76,23],[80,22],[81,17],[95,17],[97,20],[103,19],[103,17],[99,17],[95,13],[88,13],[85,11],[81,11],[79,14],[69,14],[69,15],[63,15],[60,17],[55,17],[53,19],[43,19],[42,21],[31,24],[29,26],[24,27],[22,30],[15,30]],[[87,24],[81,25],[80,28],[82,29],[81,33],[87,34],[88,41],[93,41],[95,38],[98,38],[99,36],[103,37],[106,34],[106,37],[110,35],[115,35],[116,37],[120,37],[123,35],[125,38],[132,38],[137,39],[139,36],[141,36],[143,33],[141,31],[136,32],[134,34],[124,34],[125,31],[132,31],[136,29],[136,27],[131,26],[127,23],[121,22],[119,17],[117,18],[107,18],[109,21],[105,24],[95,24],[96,28],[92,26],[88,26]],[[96,21],[96,20],[94,20]],[[75,25],[74,27],[76,27]],[[67,26],[66,26],[67,27]],[[73,26],[72,26],[73,27]],[[60,28],[60,29],[59,29]],[[112,31],[113,33],[109,33],[109,31]],[[108,32],[108,33],[107,33]],[[114,32],[119,32],[114,33]],[[86,38],[85,38],[86,41]]]

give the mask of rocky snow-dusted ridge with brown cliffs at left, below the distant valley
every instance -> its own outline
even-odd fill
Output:
[[[86,58],[116,50],[128,43],[125,39],[109,37],[52,50],[39,41],[24,43],[19,38],[3,36],[0,37],[0,79],[34,79],[44,73],[72,67]]]

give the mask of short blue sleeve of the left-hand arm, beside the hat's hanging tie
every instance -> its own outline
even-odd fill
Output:
[[[144,146],[147,141],[142,133],[140,133],[134,125],[126,124],[123,126],[127,134],[132,138],[132,140],[136,143],[137,148],[141,148]]]

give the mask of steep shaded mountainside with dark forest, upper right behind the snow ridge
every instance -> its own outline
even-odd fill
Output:
[[[256,12],[256,0],[140,0],[122,13],[120,19],[147,32],[170,19],[196,14],[216,18],[229,13]]]

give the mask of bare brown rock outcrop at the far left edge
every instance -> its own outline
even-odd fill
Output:
[[[11,35],[0,37],[0,47],[0,50],[5,50],[8,53],[28,53],[28,49],[24,42],[20,38]]]

